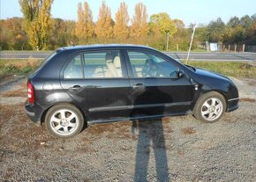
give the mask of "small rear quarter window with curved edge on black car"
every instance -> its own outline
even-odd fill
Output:
[[[81,55],[77,55],[72,58],[71,62],[64,69],[65,79],[78,79],[83,78],[83,67]]]

